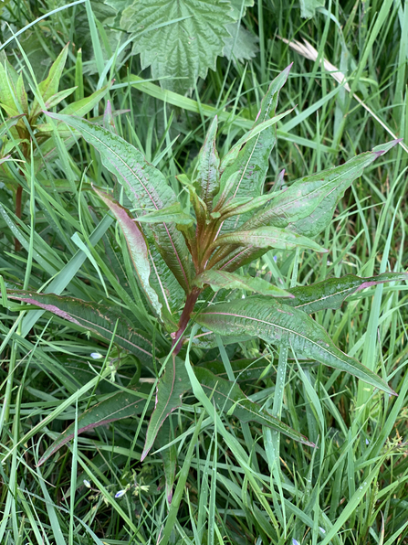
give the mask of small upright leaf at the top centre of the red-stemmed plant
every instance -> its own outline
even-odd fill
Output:
[[[220,187],[220,158],[215,148],[217,116],[211,123],[203,147],[198,154],[196,176],[200,187],[199,197],[204,200],[207,209],[213,209],[213,198]]]

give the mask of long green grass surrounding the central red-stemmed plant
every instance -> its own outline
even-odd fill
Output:
[[[115,49],[110,40],[117,28],[102,2],[68,8],[51,1],[5,3],[1,54],[22,73],[31,103],[69,41],[59,90],[76,90],[61,107],[114,79],[86,115],[100,122],[109,98],[107,126],[160,168],[177,194],[176,176],[192,172],[214,114],[224,155],[251,127],[270,80],[293,62],[279,112],[294,112],[278,123],[267,188],[283,168],[289,184],[394,136],[403,141],[340,200],[319,238],[329,254],[270,251],[250,272],[290,289],[350,273],[405,271],[406,3],[335,1],[311,19],[277,0],[246,4],[242,24],[258,39],[256,57],[219,57],[189,97],[152,81],[129,48]],[[308,40],[318,58],[307,59],[281,37]],[[323,58],[347,75],[350,91]],[[2,113],[6,120],[9,114]],[[142,325],[159,354],[161,336],[141,302],[125,240],[90,183],[116,187],[116,197],[129,203],[84,141],[53,135],[54,154],[37,168],[37,125],[25,125],[24,139],[14,128],[6,139],[2,135],[2,157],[12,153],[19,161],[0,166],[0,543],[408,543],[406,285],[369,287],[366,297],[351,295],[340,310],[314,315],[345,353],[388,381],[398,397],[257,340],[193,345],[187,369],[190,362],[211,364],[222,377],[237,379],[251,401],[319,448],[240,422],[230,411],[218,413],[211,392],[203,396],[195,385],[141,463],[145,413],[160,367],[142,377],[138,414],[77,435],[84,411],[110,395],[131,395],[139,362],[114,337],[101,342],[62,316],[7,300],[5,292],[19,287],[109,302],[136,328]],[[22,187],[21,214],[16,187]],[[38,466],[68,425],[74,439]]]

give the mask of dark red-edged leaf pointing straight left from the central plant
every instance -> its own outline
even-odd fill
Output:
[[[129,350],[143,363],[152,365],[152,341],[145,333],[135,329],[129,318],[121,313],[117,306],[82,301],[74,297],[16,290],[7,290],[7,297],[47,310],[68,320],[73,326],[89,331],[92,336],[103,338],[108,343],[118,322],[114,342],[125,350]]]

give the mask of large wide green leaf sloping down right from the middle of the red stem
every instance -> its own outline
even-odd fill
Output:
[[[247,297],[214,305],[197,315],[195,320],[219,335],[247,334],[292,348],[324,365],[351,373],[375,388],[395,393],[371,369],[341,352],[326,330],[309,315],[275,299]]]

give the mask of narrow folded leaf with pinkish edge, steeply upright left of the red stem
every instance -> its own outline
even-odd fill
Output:
[[[144,235],[134,221],[131,218],[129,211],[126,208],[120,206],[114,198],[111,198],[110,195],[107,195],[99,189],[92,185],[93,190],[99,195],[99,198],[110,208],[110,211],[118,220],[120,229],[123,232],[126,243],[128,245],[129,252],[131,254],[131,261],[133,262],[134,270],[139,278],[141,284],[141,289],[146,295],[147,300],[152,305],[152,309],[155,314],[160,318],[162,317],[162,303],[159,301],[159,297],[156,292],[152,289],[150,284],[150,275],[151,275],[151,266],[149,262],[149,251],[144,240]]]

